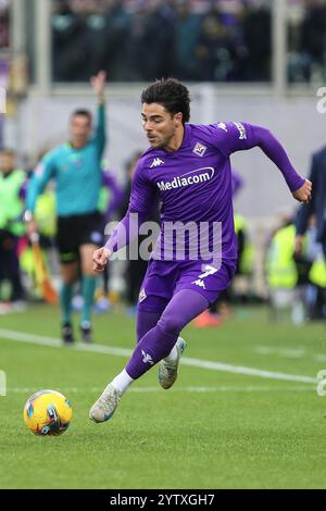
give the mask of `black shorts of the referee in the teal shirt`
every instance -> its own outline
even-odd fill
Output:
[[[103,222],[99,212],[74,216],[58,216],[57,245],[62,264],[79,259],[82,245],[103,244]]]

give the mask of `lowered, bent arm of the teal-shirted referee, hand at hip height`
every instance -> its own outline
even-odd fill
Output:
[[[43,191],[49,180],[54,177],[55,165],[53,158],[47,154],[36,166],[30,177],[26,190],[26,211],[25,221],[27,222],[28,233],[36,232],[37,226],[34,220],[34,212],[38,196]]]

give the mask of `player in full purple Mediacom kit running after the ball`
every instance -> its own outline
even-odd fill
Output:
[[[106,245],[93,253],[95,270],[103,271],[112,253],[123,245],[125,230],[129,233],[126,241],[130,241],[135,235],[135,213],[142,223],[156,194],[162,202],[162,230],[139,294],[137,347],[126,367],[90,409],[89,416],[95,422],[108,421],[129,385],[158,362],[161,386],[172,387],[185,348],[179,337],[181,329],[229,285],[237,258],[230,154],[260,147],[278,166],[294,199],[308,203],[312,190],[311,183],[297,174],[268,129],[233,122],[187,124],[189,91],[178,80],[153,83],[143,90],[141,102],[142,126],[151,147],[139,160],[126,216]],[[166,236],[171,223],[177,222],[173,233],[176,236]],[[205,256],[208,251],[197,260],[190,257],[197,240],[189,234],[185,258],[180,260],[178,229],[185,234],[180,226],[187,227],[189,222],[198,227],[209,225],[209,236],[204,239],[209,247],[214,233],[211,227],[220,222],[222,254],[216,246],[216,253],[210,258]]]

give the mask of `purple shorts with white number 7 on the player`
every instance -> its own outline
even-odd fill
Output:
[[[161,312],[181,289],[192,289],[214,303],[230,284],[236,272],[235,260],[223,261],[221,267],[203,261],[150,260],[140,288],[138,309]]]

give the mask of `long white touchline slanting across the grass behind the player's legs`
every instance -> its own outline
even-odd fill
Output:
[[[32,335],[32,334],[26,334],[24,332],[14,332],[14,331],[8,331],[3,328],[0,328],[0,339],[13,340],[16,342],[27,342],[27,344],[34,344],[34,345],[40,345],[40,346],[49,346],[51,348],[63,347],[62,341],[53,337],[43,337],[39,335]],[[131,354],[130,349],[113,348],[113,347],[104,346],[104,345],[76,344],[72,346],[71,349],[76,350],[76,351],[91,352],[91,353],[112,354],[115,357],[129,357]],[[300,383],[311,383],[311,384],[318,383],[318,379],[312,376],[301,376],[297,374],[262,371],[259,369],[242,367],[239,365],[230,365],[230,364],[225,364],[222,362],[213,362],[209,360],[189,359],[189,358],[183,357],[181,363],[183,365],[188,365],[192,367],[208,369],[212,371],[222,371],[225,373],[244,374],[247,376],[258,376],[261,378],[277,379],[281,382],[300,382]]]

